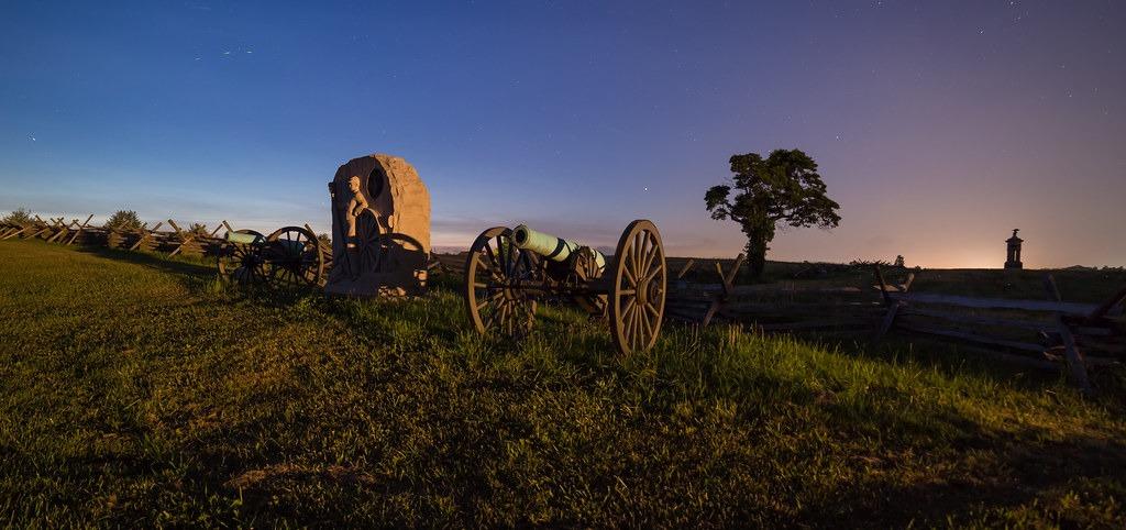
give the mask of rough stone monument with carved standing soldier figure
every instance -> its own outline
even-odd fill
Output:
[[[430,258],[430,194],[414,167],[386,154],[352,159],[329,182],[332,270],[324,291],[418,295]]]

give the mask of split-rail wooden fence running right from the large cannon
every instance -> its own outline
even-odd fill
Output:
[[[1102,304],[1064,302],[1048,275],[1039,300],[953,296],[912,291],[914,273],[890,284],[878,266],[870,289],[738,286],[742,262],[740,255],[727,270],[715,262],[717,281],[708,284],[683,279],[696,264],[687,260],[670,280],[665,314],[699,325],[722,318],[762,331],[851,333],[875,341],[894,331],[951,340],[1040,368],[1063,362],[1072,381],[1087,392],[1090,367],[1126,360],[1126,288]]]

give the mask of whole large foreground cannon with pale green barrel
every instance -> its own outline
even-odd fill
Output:
[[[623,354],[651,348],[661,331],[668,272],[656,225],[631,223],[611,259],[525,225],[481,233],[465,262],[465,309],[482,333],[520,336],[542,300],[570,299],[607,317]]]

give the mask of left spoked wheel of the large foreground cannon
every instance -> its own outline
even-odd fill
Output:
[[[536,300],[519,284],[535,280],[537,267],[535,254],[512,244],[510,228],[497,226],[477,236],[465,260],[465,309],[479,333],[516,336],[531,330]]]

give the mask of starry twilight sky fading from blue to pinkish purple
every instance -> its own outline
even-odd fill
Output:
[[[731,257],[704,191],[779,147],[842,222],[770,258],[1000,267],[1019,227],[1026,267],[1126,264],[1126,2],[0,7],[0,210],[328,231],[325,182],[382,152],[439,248],[645,217]]]

